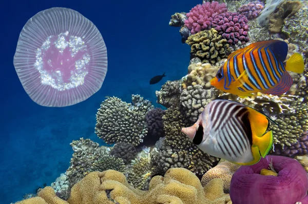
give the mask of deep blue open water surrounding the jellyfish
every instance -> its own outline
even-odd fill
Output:
[[[30,3],[31,2],[31,3]],[[0,202],[21,200],[43,183],[50,185],[69,166],[70,142],[80,137],[102,142],[94,133],[95,113],[106,95],[130,102],[141,94],[156,104],[155,91],[166,80],[184,76],[189,46],[179,28],[168,25],[175,12],[201,1],[6,1],[0,7],[1,123]],[[108,72],[101,90],[80,104],[47,108],[24,91],[13,66],[18,36],[28,19],[51,7],[79,11],[101,31],[108,51]],[[166,72],[156,85],[152,76]]]

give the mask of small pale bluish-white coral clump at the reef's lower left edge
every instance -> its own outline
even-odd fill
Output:
[[[65,174],[60,174],[60,176],[57,177],[50,186],[54,189],[55,194],[59,198],[62,198],[64,200],[67,200],[69,198],[69,181]]]

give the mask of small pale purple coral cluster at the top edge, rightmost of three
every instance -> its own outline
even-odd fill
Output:
[[[264,4],[259,1],[249,2],[238,9],[238,12],[245,15],[248,19],[254,19],[259,16],[263,10]]]

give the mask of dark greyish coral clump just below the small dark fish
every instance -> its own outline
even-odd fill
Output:
[[[160,91],[156,91],[157,103],[166,108],[177,106],[180,101],[181,81],[167,81]]]

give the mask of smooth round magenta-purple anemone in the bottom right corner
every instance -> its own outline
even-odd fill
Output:
[[[278,176],[260,175],[262,169],[269,168],[270,162]],[[297,160],[266,156],[255,165],[241,166],[233,174],[230,198],[237,204],[290,204],[301,201],[307,196],[307,190],[308,176]]]

